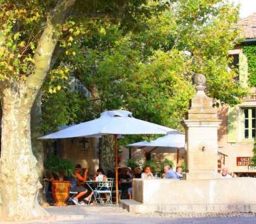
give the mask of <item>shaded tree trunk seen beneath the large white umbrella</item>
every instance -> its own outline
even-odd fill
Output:
[[[101,168],[107,172],[114,167],[114,136],[101,136]]]

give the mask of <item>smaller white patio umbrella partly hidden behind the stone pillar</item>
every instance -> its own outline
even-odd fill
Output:
[[[166,136],[159,137],[151,142],[136,142],[129,144],[134,148],[140,148],[148,154],[160,153],[177,153],[177,165],[179,163],[179,153],[185,153],[185,134],[167,134]]]

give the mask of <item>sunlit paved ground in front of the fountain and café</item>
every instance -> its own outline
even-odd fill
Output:
[[[113,206],[49,207],[48,220],[25,223],[256,223],[256,213],[139,213]],[[4,223],[1,222],[0,223]]]

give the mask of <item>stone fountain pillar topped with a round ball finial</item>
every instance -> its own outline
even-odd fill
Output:
[[[204,93],[205,76],[196,74],[194,80],[196,96],[189,101],[190,109],[185,113],[185,120],[180,122],[186,130],[183,180],[219,179],[217,129],[222,120],[217,119],[212,98]]]

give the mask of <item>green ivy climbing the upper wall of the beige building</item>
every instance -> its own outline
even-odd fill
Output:
[[[247,57],[249,86],[256,86],[256,43],[247,43],[243,45],[243,53]]]

